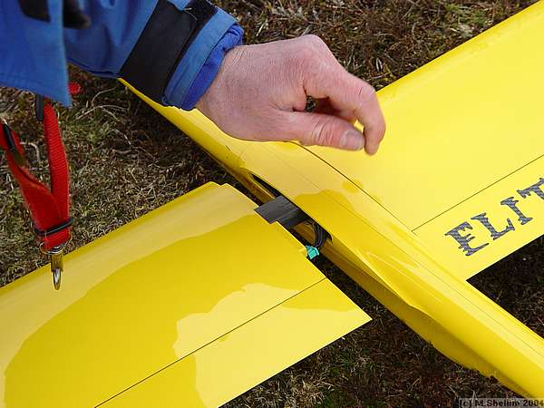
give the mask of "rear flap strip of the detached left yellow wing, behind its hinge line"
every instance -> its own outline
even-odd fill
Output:
[[[325,279],[102,406],[216,407],[368,321]]]

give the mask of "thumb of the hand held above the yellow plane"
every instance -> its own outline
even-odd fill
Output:
[[[287,133],[307,146],[330,146],[347,151],[364,148],[363,133],[349,122],[322,113],[289,112]]]

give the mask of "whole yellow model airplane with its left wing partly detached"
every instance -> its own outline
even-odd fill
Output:
[[[467,282],[544,232],[542,44],[539,2],[384,88],[375,157],[140,95],[269,202],[210,183],[68,255],[60,292],[49,267],[1,288],[0,405],[218,406],[368,322],[289,232],[306,219],[444,355],[543,397],[544,340]]]

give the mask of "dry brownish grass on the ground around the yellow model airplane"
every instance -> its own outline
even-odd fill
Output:
[[[224,0],[258,43],[319,34],[346,68],[381,88],[532,1]],[[84,92],[61,111],[73,179],[71,249],[214,180],[236,184],[180,131],[120,84],[77,70]],[[28,94],[3,90],[0,112],[46,178]],[[38,154],[38,151],[42,151]],[[14,181],[0,162],[0,285],[44,264]],[[542,238],[471,279],[544,335]],[[230,407],[446,407],[459,397],[514,395],[462,368],[389,313],[334,265],[318,266],[373,321],[228,403]]]

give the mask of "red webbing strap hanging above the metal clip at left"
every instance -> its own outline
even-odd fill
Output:
[[[51,189],[37,180],[26,167],[24,150],[15,132],[7,125],[0,126],[0,146],[6,151],[9,168],[30,211],[34,231],[41,240],[43,249],[50,250],[70,239],[71,219],[68,162],[56,113],[49,102],[44,104],[44,137]]]

